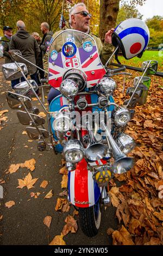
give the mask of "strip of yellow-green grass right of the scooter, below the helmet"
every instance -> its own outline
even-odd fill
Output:
[[[163,56],[162,52],[159,51],[145,51],[141,58],[133,58],[133,59],[125,59],[123,56],[119,56],[118,59],[120,60],[121,64],[128,65],[128,66],[136,66],[141,68],[142,62],[145,60],[157,60],[158,61],[158,71],[163,72]]]

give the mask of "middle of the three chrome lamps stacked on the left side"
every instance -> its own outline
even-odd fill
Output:
[[[57,113],[53,121],[53,129],[59,132],[70,130],[70,118],[66,113]]]

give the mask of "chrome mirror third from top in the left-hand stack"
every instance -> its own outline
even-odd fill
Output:
[[[19,95],[17,93],[7,92],[6,94],[8,105],[12,109],[23,109],[24,106],[27,108],[32,108],[32,100],[29,99],[29,97]]]

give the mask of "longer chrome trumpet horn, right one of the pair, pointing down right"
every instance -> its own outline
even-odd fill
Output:
[[[105,125],[104,121],[101,122],[102,129],[106,132],[106,138],[108,142],[108,147],[111,147],[112,154],[114,156],[115,162],[112,166],[112,171],[115,174],[126,173],[134,166],[134,160],[132,157],[128,157],[123,154],[121,149],[118,147],[116,142],[111,136],[111,133],[108,127]]]

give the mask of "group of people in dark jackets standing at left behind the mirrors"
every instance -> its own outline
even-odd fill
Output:
[[[17,33],[12,35],[12,28],[9,26],[3,27],[3,37],[1,38],[0,44],[3,46],[3,56],[5,57],[5,63],[12,63],[13,59],[10,55],[10,50],[19,50],[22,53],[22,57],[29,62],[39,66],[43,69],[43,56],[46,53],[49,41],[52,38],[53,32],[49,31],[49,25],[47,22],[41,23],[40,29],[43,37],[37,32],[29,34],[26,31],[26,26],[23,21],[17,21]],[[21,63],[27,65],[28,74],[32,80],[40,85],[40,79],[44,78],[44,72],[37,69],[34,65],[26,62],[20,58]],[[23,82],[24,78],[12,80],[11,87],[14,89],[16,84]]]

